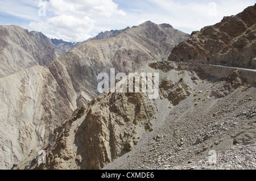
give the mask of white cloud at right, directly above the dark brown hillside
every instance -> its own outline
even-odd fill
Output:
[[[147,0],[158,7],[158,18],[155,22],[170,23],[175,28],[191,33],[205,26],[216,24],[224,16],[236,15],[246,7],[254,5],[254,0],[213,0],[213,1],[170,1]],[[216,5],[216,14],[212,14]]]

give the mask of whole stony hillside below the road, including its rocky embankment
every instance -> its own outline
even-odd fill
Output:
[[[138,145],[104,169],[255,170],[256,71],[176,65],[166,73],[167,79],[180,74],[190,95],[168,111],[156,112],[154,130],[135,137]],[[162,103],[158,110],[167,106]],[[210,162],[210,153],[216,162]]]

